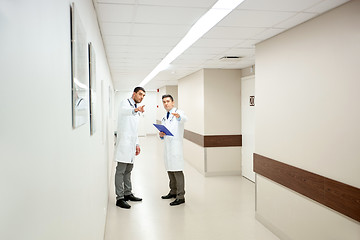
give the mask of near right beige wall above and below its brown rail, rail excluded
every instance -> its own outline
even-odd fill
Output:
[[[256,46],[255,152],[360,187],[360,1]],[[360,225],[257,179],[257,214],[289,239],[360,239]]]

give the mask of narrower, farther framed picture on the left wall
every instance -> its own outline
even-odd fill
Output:
[[[96,56],[92,43],[88,45],[89,49],[89,107],[90,107],[90,135],[93,135],[96,130]]]

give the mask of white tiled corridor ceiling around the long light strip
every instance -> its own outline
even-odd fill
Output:
[[[216,0],[93,0],[114,83],[131,91],[161,62]],[[177,85],[202,68],[255,64],[255,44],[347,0],[245,0],[145,89]],[[240,59],[220,60],[224,56]]]

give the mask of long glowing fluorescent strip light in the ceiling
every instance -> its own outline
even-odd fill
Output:
[[[244,0],[219,0],[207,11],[189,30],[183,39],[171,50],[168,55],[151,71],[149,75],[139,84],[143,87],[150,82],[159,72],[166,69],[180,54],[199,40],[205,33],[213,28],[218,22],[226,17]]]

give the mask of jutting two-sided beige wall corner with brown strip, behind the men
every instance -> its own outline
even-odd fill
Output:
[[[178,81],[184,158],[205,176],[241,174],[240,79],[241,70],[202,69]]]

